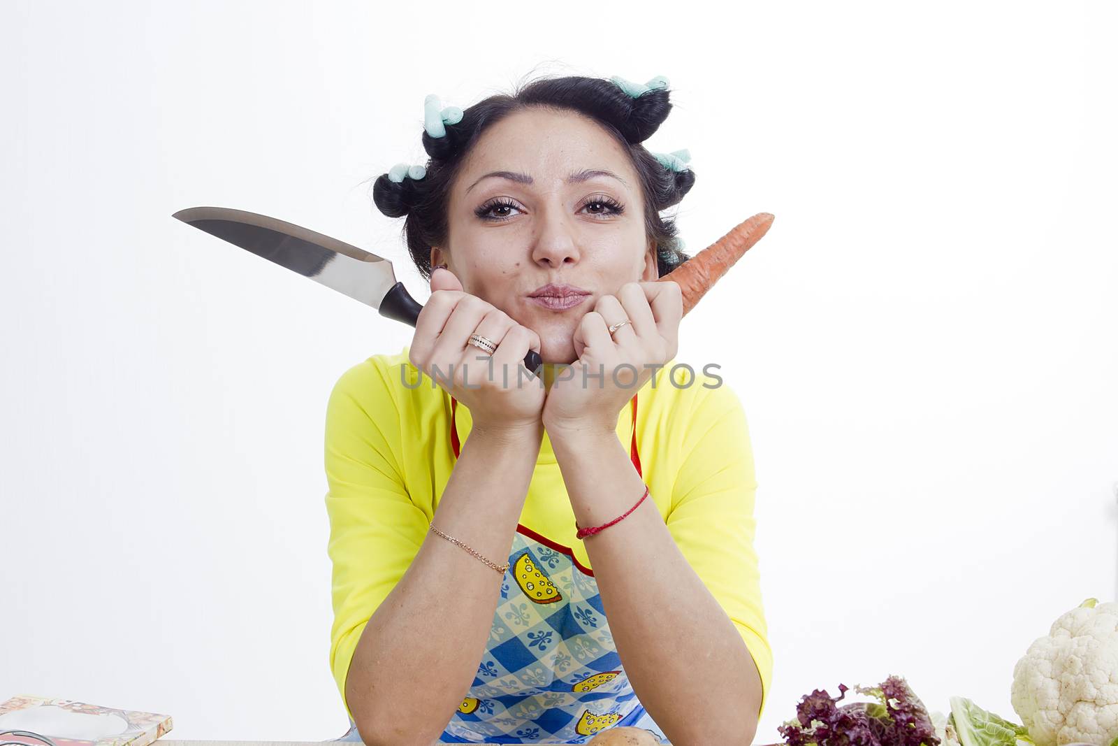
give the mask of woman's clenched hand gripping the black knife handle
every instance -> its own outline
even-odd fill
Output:
[[[430,289],[408,350],[411,365],[470,408],[474,429],[511,433],[539,427],[546,393],[542,381],[521,363],[528,350],[540,351],[539,334],[464,292],[449,270],[437,267]],[[492,361],[470,343],[475,332],[496,344]]]

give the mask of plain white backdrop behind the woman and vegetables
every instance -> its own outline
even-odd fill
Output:
[[[1116,584],[1118,16],[1107,3],[0,3],[0,700],[325,739],[328,395],[411,330],[171,218],[395,261],[371,180],[423,101],[665,75],[689,251],[765,239],[683,322],[754,442],[776,668],[1003,716]],[[401,678],[423,672],[400,671]]]

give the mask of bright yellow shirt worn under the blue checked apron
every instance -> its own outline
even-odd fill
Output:
[[[757,482],[747,421],[717,372],[671,372],[676,362],[637,390],[643,479],[683,556],[746,642],[760,673],[764,711],[773,651],[754,550]],[[331,391],[325,417],[334,611],[330,665],[343,703],[361,632],[419,551],[454,468],[451,422],[451,396],[420,377],[408,347],[354,365]],[[472,419],[461,402],[455,424],[465,443]],[[617,421],[626,450],[632,433],[626,406]],[[593,570],[582,541],[575,538],[575,514],[547,433],[520,523],[569,547],[575,560]]]

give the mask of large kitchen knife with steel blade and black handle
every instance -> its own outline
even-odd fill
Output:
[[[382,256],[277,218],[228,207],[190,207],[172,217],[371,305],[382,317],[411,327],[419,319],[423,305],[397,282],[392,263]],[[524,356],[524,367],[533,374],[539,375],[542,362],[536,350]]]

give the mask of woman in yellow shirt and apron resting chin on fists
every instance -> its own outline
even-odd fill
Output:
[[[654,282],[686,259],[660,211],[694,182],[639,144],[666,84],[428,96],[426,169],[375,185],[432,295],[328,405],[342,739],[752,739],[773,660],[746,418],[672,368],[682,301]]]

